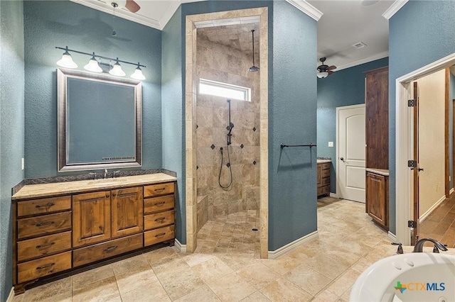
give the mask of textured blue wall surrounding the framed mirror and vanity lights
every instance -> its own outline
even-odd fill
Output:
[[[55,46],[140,61],[142,82],[142,169],[161,168],[161,31],[113,18],[70,1],[25,1],[26,177],[57,172],[57,79]],[[115,27],[117,36],[112,37]],[[73,54],[80,70],[90,57]],[[122,65],[127,74],[133,65]],[[94,129],[95,130],[95,129]]]

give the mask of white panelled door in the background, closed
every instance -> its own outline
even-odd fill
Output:
[[[365,104],[336,108],[337,195],[365,203]]]

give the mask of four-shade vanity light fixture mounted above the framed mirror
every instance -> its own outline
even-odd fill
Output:
[[[109,60],[109,61],[114,61],[115,64],[114,66],[109,70],[109,74],[112,74],[117,77],[124,77],[126,74],[122,69],[122,66],[120,65],[120,62],[125,63],[125,64],[130,64],[136,66],[136,69],[134,70],[134,73],[131,75],[133,79],[139,79],[139,80],[144,80],[146,77],[144,77],[144,74],[142,74],[142,69],[141,67],[146,67],[145,65],[141,65],[139,62],[132,63],[132,62],[127,62],[127,61],[122,61],[119,60],[119,58],[112,58],[112,57],[105,57],[102,55],[95,55],[95,52],[88,53],[88,52],[82,52],[78,50],[70,50],[68,49],[68,46],[66,47],[58,47],[55,46],[55,48],[60,49],[60,50],[65,50],[63,53],[63,56],[60,60],[58,60],[57,65],[65,68],[77,68],[77,64],[73,61],[70,52],[76,52],[81,55],[89,55],[91,58],[87,65],[84,66],[85,69],[87,69],[90,72],[103,72],[103,69],[100,67],[100,64],[103,65],[101,62],[97,61],[97,58],[99,59],[104,59],[104,60]]]

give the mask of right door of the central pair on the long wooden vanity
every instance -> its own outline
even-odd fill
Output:
[[[111,191],[112,237],[144,230],[142,187]]]

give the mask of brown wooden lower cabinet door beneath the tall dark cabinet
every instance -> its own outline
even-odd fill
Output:
[[[367,174],[366,199],[368,215],[380,225],[386,226],[385,177],[382,175]]]

